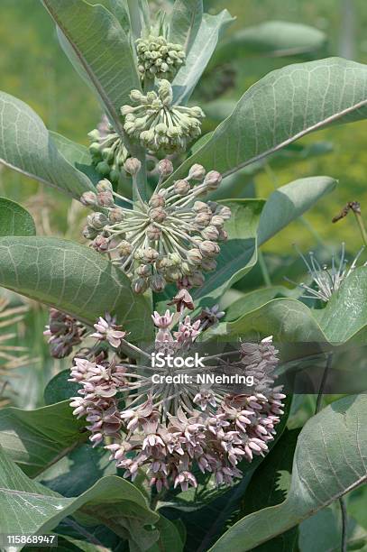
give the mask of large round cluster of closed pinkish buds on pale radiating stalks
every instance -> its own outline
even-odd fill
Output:
[[[131,209],[115,205],[114,198],[121,197],[106,180],[98,183],[96,194],[82,197],[84,205],[105,207],[107,213],[88,216],[85,237],[97,251],[108,251],[137,293],[149,288],[158,292],[171,282],[201,286],[204,274],[216,270],[218,243],[227,238],[224,225],[231,216],[228,207],[198,199],[220,185],[222,177],[215,170],[193,165],[185,179],[165,188],[173,167],[163,160],[157,169],[160,180],[151,198]]]

